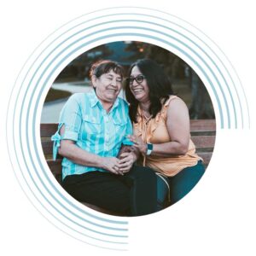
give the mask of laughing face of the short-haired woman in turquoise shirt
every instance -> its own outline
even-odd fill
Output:
[[[122,77],[110,70],[108,73],[103,73],[99,78],[94,75],[92,85],[96,90],[96,96],[102,103],[113,103],[121,90]]]

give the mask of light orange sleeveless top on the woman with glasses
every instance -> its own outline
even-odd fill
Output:
[[[160,113],[157,113],[154,119],[148,121],[143,117],[142,110],[138,107],[137,123],[133,124],[133,133],[137,137],[142,137],[145,143],[159,144],[172,141],[166,126],[167,108],[169,103],[176,99],[177,96],[170,98],[163,105]],[[176,175],[183,168],[195,166],[198,160],[202,160],[195,153],[195,144],[189,139],[188,152],[184,155],[175,155],[172,157],[160,157],[154,155],[143,155],[143,166],[149,166],[155,171],[160,172],[168,177]]]

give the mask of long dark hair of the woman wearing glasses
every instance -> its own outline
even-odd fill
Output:
[[[136,66],[147,80],[150,100],[149,113],[153,115],[153,118],[160,112],[162,104],[167,101],[170,95],[173,95],[171,80],[158,63],[149,59],[142,59],[131,64],[128,79],[125,81],[125,97],[127,102],[130,103],[130,118],[135,123],[137,123],[137,107],[139,102],[131,93],[129,77],[132,68]]]

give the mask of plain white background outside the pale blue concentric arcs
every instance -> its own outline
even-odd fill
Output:
[[[150,3],[151,2],[151,3]],[[20,69],[51,32],[96,9],[141,6],[160,9],[205,32],[238,73],[247,95],[251,129],[218,131],[207,174],[182,202],[130,220],[130,250],[171,255],[255,255],[255,8],[254,1],[8,1],[1,26],[1,255],[115,255],[57,230],[32,206],[10,166],[5,119]],[[253,106],[254,105],[254,106]],[[90,254],[89,254],[90,253]]]

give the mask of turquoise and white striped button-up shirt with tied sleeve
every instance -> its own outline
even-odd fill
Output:
[[[51,137],[54,141],[54,160],[63,139],[76,142],[79,148],[92,154],[116,157],[125,137],[132,134],[128,111],[127,102],[118,97],[107,113],[94,90],[70,96],[61,110],[58,131]],[[62,125],[65,125],[65,133],[61,136]],[[107,172],[96,167],[77,165],[67,158],[62,160],[62,179],[67,175],[92,171]]]

